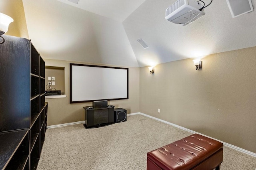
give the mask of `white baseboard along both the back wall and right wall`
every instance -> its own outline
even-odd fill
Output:
[[[184,127],[181,127],[181,126],[179,126],[179,125],[175,125],[175,124],[173,124],[173,123],[164,121],[164,120],[162,120],[162,119],[158,119],[158,118],[156,118],[156,117],[152,117],[152,116],[150,116],[150,115],[146,115],[146,114],[144,114],[144,113],[137,112],[137,113],[130,113],[130,114],[127,114],[127,116],[132,116],[132,115],[143,115],[143,116],[149,117],[149,118],[151,118],[151,119],[155,119],[155,120],[157,120],[157,121],[166,123],[166,124],[168,124],[168,125],[172,125],[172,126],[174,126],[174,127],[180,128],[180,129],[182,129],[182,130],[186,130],[186,131],[191,132],[191,133],[197,133],[197,134],[201,134],[202,136],[206,136],[206,135],[204,135],[204,134],[202,134],[202,133],[198,133],[198,132],[196,132],[196,131],[194,131],[194,130],[190,130],[190,129],[188,129],[188,128],[184,128]],[[80,123],[84,123],[84,121],[72,122],[72,123],[64,123],[64,124],[59,124],[59,125],[51,125],[51,126],[47,126],[47,128],[63,127],[63,126],[68,126],[68,125],[80,124]],[[212,137],[210,137],[210,136],[206,136],[206,137],[212,138]],[[248,150],[245,150],[245,149],[243,149],[243,148],[239,148],[239,147],[237,147],[237,146],[234,146],[234,145],[232,145],[232,144],[223,142],[223,141],[218,140],[218,139],[215,139],[215,138],[212,138],[212,139],[217,140],[217,141],[219,141],[219,142],[222,142],[225,146],[228,146],[228,147],[230,147],[230,148],[232,148],[232,149],[235,149],[235,150],[238,150],[238,151],[240,151],[240,152],[246,153],[246,154],[248,154],[248,155],[250,155],[250,156],[256,157],[256,153],[254,153],[254,152],[250,152],[250,151],[248,151]],[[256,169],[255,169],[255,170],[256,170]]]

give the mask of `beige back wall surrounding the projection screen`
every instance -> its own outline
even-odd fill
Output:
[[[64,67],[65,68],[65,93],[66,98],[45,99],[48,102],[48,126],[58,125],[63,123],[71,123],[77,121],[84,121],[83,107],[92,105],[89,103],[72,103],[70,104],[70,69],[69,63],[81,63],[75,61],[62,61],[44,59],[46,66]],[[96,64],[93,64],[96,65]],[[122,66],[120,66],[122,67]],[[127,67],[126,67],[127,68]],[[139,112],[139,82],[140,82],[140,68],[129,68],[129,99],[108,101],[108,104],[114,105],[116,108],[123,108],[127,113]],[[47,77],[46,77],[47,78]]]

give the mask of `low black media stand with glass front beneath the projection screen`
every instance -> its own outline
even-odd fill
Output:
[[[114,106],[103,106],[93,108],[86,106],[84,108],[85,128],[102,127],[111,125],[114,122]]]

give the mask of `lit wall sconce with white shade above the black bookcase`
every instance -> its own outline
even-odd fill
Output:
[[[2,35],[8,31],[9,24],[13,22],[13,19],[3,13],[0,13],[0,44],[4,43]]]

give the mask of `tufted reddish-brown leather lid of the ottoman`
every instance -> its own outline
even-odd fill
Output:
[[[200,134],[192,134],[148,152],[148,158],[164,170],[191,169],[222,147],[221,142]]]

